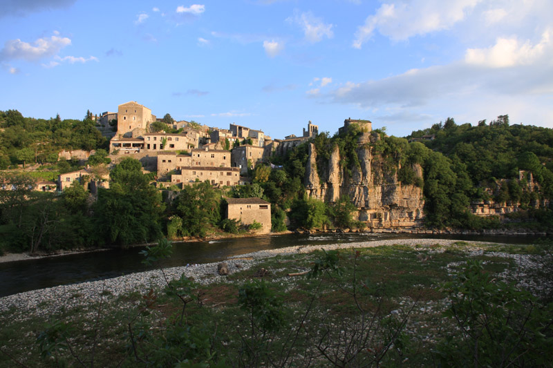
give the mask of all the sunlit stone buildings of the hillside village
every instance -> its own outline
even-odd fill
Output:
[[[303,128],[301,137],[291,134],[284,139],[272,139],[262,130],[236,124],[229,124],[228,129],[186,121],[172,121],[167,125],[164,119],[157,118],[151,109],[136,101],[120,104],[117,113],[105,112],[91,118],[107,135],[111,135],[113,130],[110,127],[116,126],[109,142],[109,154],[114,157],[114,162],[122,157],[138,159],[144,170],[157,173],[158,188],[182,189],[185,185],[206,180],[216,187],[251,184],[248,170],[267,164],[272,155],[285,155],[319,133],[319,126],[311,122],[308,122],[307,129]],[[164,130],[154,133],[153,130],[158,128],[154,127],[156,122],[166,124],[167,128],[178,133],[166,133]],[[340,129],[350,124],[362,124],[366,132],[371,131],[368,120],[350,118]],[[56,183],[57,190],[64,191],[75,180],[91,176],[90,168],[61,174]],[[53,183],[48,182],[38,185],[39,190],[44,190],[47,185],[53,187]],[[97,188],[109,188],[109,173],[104,173],[100,180],[91,180],[90,185],[92,193]],[[227,218],[240,220],[242,224],[259,222],[261,229],[257,233],[271,231],[270,203],[259,198],[227,199]]]

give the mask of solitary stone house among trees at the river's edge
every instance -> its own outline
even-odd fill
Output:
[[[243,224],[261,224],[259,233],[271,232],[271,204],[261,198],[227,198],[227,218]]]

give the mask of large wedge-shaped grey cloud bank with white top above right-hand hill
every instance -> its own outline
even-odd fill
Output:
[[[395,126],[405,124],[404,135],[410,132],[408,121],[435,123],[447,116],[475,123],[509,114],[512,122],[552,126],[550,35],[547,30],[536,41],[498,39],[489,48],[467,49],[464,59],[451,64],[411,69],[384,79],[348,81],[313,97],[379,110],[382,115],[375,118]]]

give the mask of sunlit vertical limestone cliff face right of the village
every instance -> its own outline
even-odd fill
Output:
[[[370,229],[400,229],[422,225],[424,199],[422,189],[397,182],[397,174],[386,170],[382,157],[373,157],[366,145],[369,135],[359,139],[357,157],[359,166],[347,170],[340,166],[339,148],[335,146],[328,160],[324,177],[317,171],[315,145],[310,144],[305,184],[308,196],[325,202],[336,202],[341,195],[349,195],[357,207],[354,218]],[[319,162],[319,165],[326,163]],[[413,166],[422,177],[422,168]]]

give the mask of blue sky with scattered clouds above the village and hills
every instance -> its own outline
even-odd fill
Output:
[[[126,101],[162,117],[301,135],[370,119],[553,127],[550,0],[3,0],[0,110]]]

